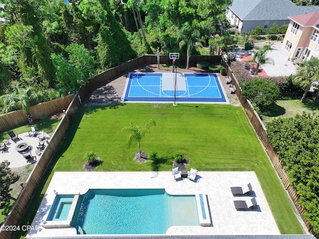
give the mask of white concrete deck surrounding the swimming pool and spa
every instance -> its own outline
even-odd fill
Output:
[[[230,187],[251,183],[253,195],[236,196]],[[173,226],[166,235],[280,235],[255,172],[199,171],[196,182],[174,182],[171,172],[55,172],[26,238],[74,237],[75,228],[43,228],[56,194],[84,194],[89,189],[165,189],[172,195],[207,195],[211,225]],[[257,210],[237,211],[233,201],[256,197]],[[115,235],[113,235],[115,236]]]

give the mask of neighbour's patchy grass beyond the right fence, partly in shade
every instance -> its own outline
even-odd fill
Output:
[[[275,118],[294,117],[297,113],[319,113],[319,104],[313,100],[306,100],[301,103],[300,100],[278,100],[277,104],[270,116],[263,116],[263,122],[270,122]]]

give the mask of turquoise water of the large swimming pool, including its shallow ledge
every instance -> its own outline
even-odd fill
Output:
[[[171,226],[199,225],[195,196],[164,189],[91,189],[74,215],[78,234],[165,234]]]

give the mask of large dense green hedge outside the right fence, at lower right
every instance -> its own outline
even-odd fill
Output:
[[[267,123],[267,133],[300,196],[303,215],[319,233],[319,117],[297,114]]]

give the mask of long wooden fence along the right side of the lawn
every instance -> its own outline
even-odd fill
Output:
[[[230,76],[230,78],[231,78],[231,84],[233,84],[236,87],[236,95],[237,95],[242,107],[244,108],[245,113],[246,113],[251,125],[253,126],[257,136],[259,137],[260,141],[264,145],[265,151],[266,151],[268,157],[270,158],[274,168],[276,169],[277,174],[279,175],[285,189],[289,193],[289,195],[290,195],[291,199],[293,200],[300,215],[303,215],[306,212],[306,210],[303,207],[301,207],[300,205],[298,205],[299,196],[297,194],[297,191],[291,185],[290,180],[289,180],[288,175],[287,175],[287,172],[286,172],[286,169],[283,166],[283,162],[279,158],[279,155],[277,154],[276,150],[271,145],[271,143],[268,139],[266,127],[264,126],[259,115],[254,110],[254,108],[251,105],[251,103],[249,102],[249,100],[247,100],[246,98],[243,97],[241,88],[239,87],[239,83],[238,83],[236,77],[231,72],[231,68],[228,66],[228,64],[223,59],[222,59],[222,64],[223,64],[223,66],[225,66],[227,68],[228,76]],[[304,217],[303,217],[303,220],[304,220],[308,230],[316,238],[319,239],[319,234],[316,234],[314,232],[313,226],[310,225],[308,220],[305,219]]]

